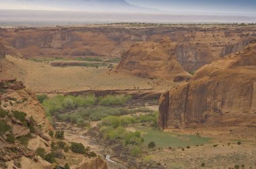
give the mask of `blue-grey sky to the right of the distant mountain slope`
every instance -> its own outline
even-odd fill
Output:
[[[164,11],[256,13],[256,0],[127,0]]]

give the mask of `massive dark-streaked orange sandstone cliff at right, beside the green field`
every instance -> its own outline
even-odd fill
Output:
[[[256,120],[256,44],[200,68],[160,99],[158,125],[250,125]]]

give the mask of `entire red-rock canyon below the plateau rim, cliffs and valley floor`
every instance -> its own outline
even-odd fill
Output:
[[[113,23],[12,27],[0,29],[0,37],[0,108],[26,113],[34,119],[38,131],[32,134],[28,148],[15,141],[17,148],[28,150],[24,156],[8,150],[9,132],[0,136],[4,145],[0,146],[0,153],[7,157],[0,158],[3,167],[17,166],[20,158],[22,166],[51,166],[41,158],[38,162],[35,152],[38,146],[51,152],[50,144],[57,141],[47,132],[51,129],[65,131],[66,144],[79,141],[101,157],[85,158],[84,154],[65,152],[67,160],[57,161],[61,167],[67,161],[73,168],[117,168],[102,159],[109,156],[127,168],[175,168],[179,166],[176,163],[183,165],[180,168],[199,168],[204,163],[218,168],[234,167],[236,162],[255,166],[254,25]],[[67,107],[49,115],[49,107],[36,98],[41,95],[56,104],[54,99],[63,97],[65,103],[60,105]],[[100,105],[105,97],[119,96],[132,99],[123,105]],[[92,97],[94,104],[72,108],[72,98],[77,97]],[[88,109],[98,107],[101,111],[121,108],[129,112],[117,115],[122,121],[117,129],[123,129],[122,133],[139,132],[139,136],[128,146],[123,137],[107,137],[108,133],[102,133],[104,129],[115,127],[107,123],[102,129],[103,117],[91,121],[82,116]],[[72,113],[89,125],[80,127],[70,119],[60,121],[61,115]],[[113,117],[108,115],[104,117]],[[149,118],[143,119],[143,115]],[[20,121],[9,118],[4,120],[13,127],[10,132],[17,138],[31,133]],[[137,118],[139,122],[123,122],[125,118]],[[21,129],[22,135],[16,129]],[[131,156],[131,148],[141,137],[143,142],[146,140],[139,147],[141,156]],[[150,141],[156,142],[156,148],[148,148]],[[146,163],[144,158],[148,156],[152,156],[152,164]]]

